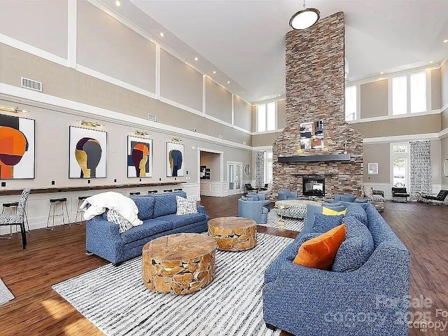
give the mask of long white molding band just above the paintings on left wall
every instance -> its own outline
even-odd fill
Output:
[[[3,94],[10,97],[4,97]],[[218,137],[212,137],[208,134],[201,134],[190,130],[184,130],[179,127],[174,127],[171,125],[153,122],[151,120],[137,118],[124,113],[118,113],[115,111],[102,109],[97,106],[87,105],[80,102],[73,102],[69,99],[55,97],[51,96],[50,94],[35,92],[32,90],[27,90],[22,87],[16,87],[5,83],[0,83],[0,97],[1,99],[5,99],[11,102],[18,102],[31,106],[38,106],[44,109],[52,109],[54,111],[70,113],[76,116],[82,115],[91,118],[92,117],[102,118],[102,120],[104,121],[109,121],[111,123],[117,123],[120,125],[130,125],[132,127],[140,127],[140,128],[147,127],[149,130],[153,130],[154,132],[175,134],[176,136],[188,137],[190,139],[195,139],[199,141],[211,142],[213,144],[218,144],[230,148],[239,148],[246,151],[252,151],[251,146],[238,144],[234,141],[219,139]],[[36,104],[36,103],[42,103],[42,104]]]

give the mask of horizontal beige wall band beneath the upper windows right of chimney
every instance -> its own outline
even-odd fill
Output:
[[[440,132],[440,114],[351,124],[364,138]]]

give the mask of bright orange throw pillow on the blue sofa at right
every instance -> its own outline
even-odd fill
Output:
[[[345,224],[305,241],[299,248],[294,263],[306,267],[329,269],[335,261],[339,246],[345,239]]]

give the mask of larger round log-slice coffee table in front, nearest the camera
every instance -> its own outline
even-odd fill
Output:
[[[216,241],[207,235],[179,233],[143,247],[142,278],[153,292],[188,294],[206,287],[215,274]]]

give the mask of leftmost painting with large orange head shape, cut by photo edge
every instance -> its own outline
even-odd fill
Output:
[[[34,179],[35,120],[0,115],[0,179]]]

